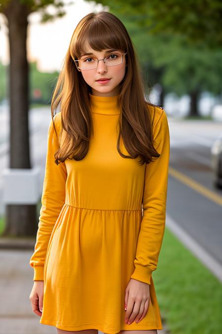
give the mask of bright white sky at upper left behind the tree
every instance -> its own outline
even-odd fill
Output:
[[[27,57],[28,61],[37,61],[37,69],[40,72],[60,71],[66,51],[69,47],[73,31],[80,19],[91,11],[108,10],[94,1],[63,0],[67,14],[57,18],[54,22],[39,23],[40,14],[33,13],[28,17],[29,26],[27,32]],[[48,11],[54,10],[48,6]],[[0,62],[3,65],[9,63],[9,47],[5,18],[0,14]]]

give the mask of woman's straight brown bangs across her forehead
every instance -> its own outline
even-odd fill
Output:
[[[94,18],[82,26],[73,41],[73,55],[80,58],[82,54],[86,53],[84,47],[87,44],[95,51],[104,49],[127,51],[127,42],[119,31],[119,27],[112,26],[111,28],[105,21],[98,18]]]

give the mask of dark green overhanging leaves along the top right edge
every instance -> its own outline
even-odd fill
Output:
[[[221,0],[96,0],[133,19],[148,29],[150,34],[183,34],[192,45],[202,43],[209,48],[222,44],[222,1]]]

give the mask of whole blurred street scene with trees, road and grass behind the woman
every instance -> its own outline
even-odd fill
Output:
[[[166,228],[153,280],[164,329],[222,333],[222,1],[0,0],[0,334],[56,333],[29,295],[51,119],[76,24],[126,26],[170,128]]]

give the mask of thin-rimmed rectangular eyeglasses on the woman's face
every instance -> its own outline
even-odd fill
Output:
[[[88,58],[83,58],[83,59],[76,59],[74,60],[74,62],[78,70],[93,70],[97,68],[100,60],[103,60],[107,66],[117,66],[117,65],[122,64],[123,56],[126,53],[127,52],[125,53],[114,52],[106,56],[103,59],[97,59],[96,57],[88,57]],[[78,62],[78,64],[76,64],[76,62]]]

